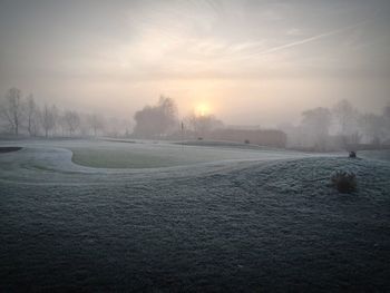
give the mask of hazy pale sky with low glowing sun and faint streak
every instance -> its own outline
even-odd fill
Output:
[[[234,125],[379,113],[389,31],[386,0],[0,0],[0,94],[123,118],[165,95]]]

